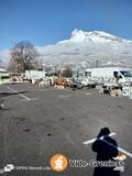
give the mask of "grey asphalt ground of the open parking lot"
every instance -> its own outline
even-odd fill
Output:
[[[4,105],[0,110],[0,175],[94,176],[91,166],[68,165],[62,173],[53,172],[50,160],[57,153],[68,160],[96,160],[92,144],[84,142],[96,138],[106,127],[116,133],[112,139],[118,146],[128,152],[120,175],[132,175],[132,100],[95,89],[45,89],[26,84],[0,86],[0,99]],[[15,169],[2,173],[7,164]]]

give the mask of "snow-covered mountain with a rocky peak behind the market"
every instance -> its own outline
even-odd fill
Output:
[[[55,45],[37,47],[40,58],[53,65],[70,64],[77,67],[131,66],[132,41],[102,31],[75,30],[70,38]]]

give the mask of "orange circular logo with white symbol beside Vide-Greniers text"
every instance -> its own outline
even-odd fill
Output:
[[[64,169],[66,169],[68,166],[68,161],[66,158],[66,156],[62,155],[62,154],[55,154],[52,158],[51,158],[51,167],[53,170],[55,172],[63,172]]]

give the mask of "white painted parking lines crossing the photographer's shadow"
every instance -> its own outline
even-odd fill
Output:
[[[112,135],[116,135],[116,134],[117,134],[117,133],[113,132],[113,133],[110,133],[109,136],[112,136]],[[103,142],[106,142],[106,143],[109,144],[110,146],[112,146],[112,147],[114,147],[114,148],[118,148],[118,151],[122,152],[123,154],[125,154],[125,155],[128,155],[128,156],[130,156],[130,157],[132,158],[132,153],[123,150],[123,148],[120,147],[120,146],[113,145],[112,143],[110,143],[110,142],[108,142],[107,140],[105,140],[105,138],[106,138],[105,135],[101,136],[101,138],[99,138],[99,139],[95,138],[95,139],[91,139],[91,140],[88,140],[88,141],[86,141],[86,142],[84,142],[84,144],[85,144],[85,145],[88,145],[88,144],[94,143],[96,140],[102,140]]]

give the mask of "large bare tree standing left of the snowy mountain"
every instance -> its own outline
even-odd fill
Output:
[[[37,67],[37,52],[33,44],[28,41],[21,41],[11,50],[9,70],[12,73],[22,73]]]

